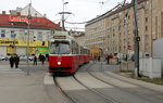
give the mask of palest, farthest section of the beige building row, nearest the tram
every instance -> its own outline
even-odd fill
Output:
[[[105,49],[106,14],[91,20],[86,25],[85,46],[89,49]]]

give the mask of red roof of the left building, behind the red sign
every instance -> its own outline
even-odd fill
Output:
[[[11,15],[11,14],[0,14],[0,26],[12,26],[10,23],[10,17],[27,17],[23,15]],[[25,23],[13,23],[14,26],[17,27],[26,27]],[[61,26],[48,20],[47,17],[30,17],[30,28],[53,28],[60,29]]]

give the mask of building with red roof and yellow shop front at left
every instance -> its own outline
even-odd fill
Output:
[[[52,30],[61,30],[60,25],[41,16],[29,5],[10,13],[3,11],[0,14],[0,54],[47,53],[49,36]]]

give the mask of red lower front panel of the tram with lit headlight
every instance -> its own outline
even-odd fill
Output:
[[[67,72],[75,73],[78,67],[78,59],[76,55],[50,55],[49,73]]]

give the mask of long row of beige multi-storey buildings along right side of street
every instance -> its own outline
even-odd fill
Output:
[[[163,1],[138,0],[138,30],[140,56],[152,56],[153,40],[163,37]],[[88,22],[85,44],[101,48],[105,54],[134,54],[135,17],[133,3],[126,3]],[[100,26],[99,26],[100,24]],[[103,25],[102,25],[103,24]],[[98,28],[90,29],[90,28]],[[100,39],[100,38],[103,39]],[[97,44],[101,42],[100,44]],[[103,43],[102,43],[103,42]]]

